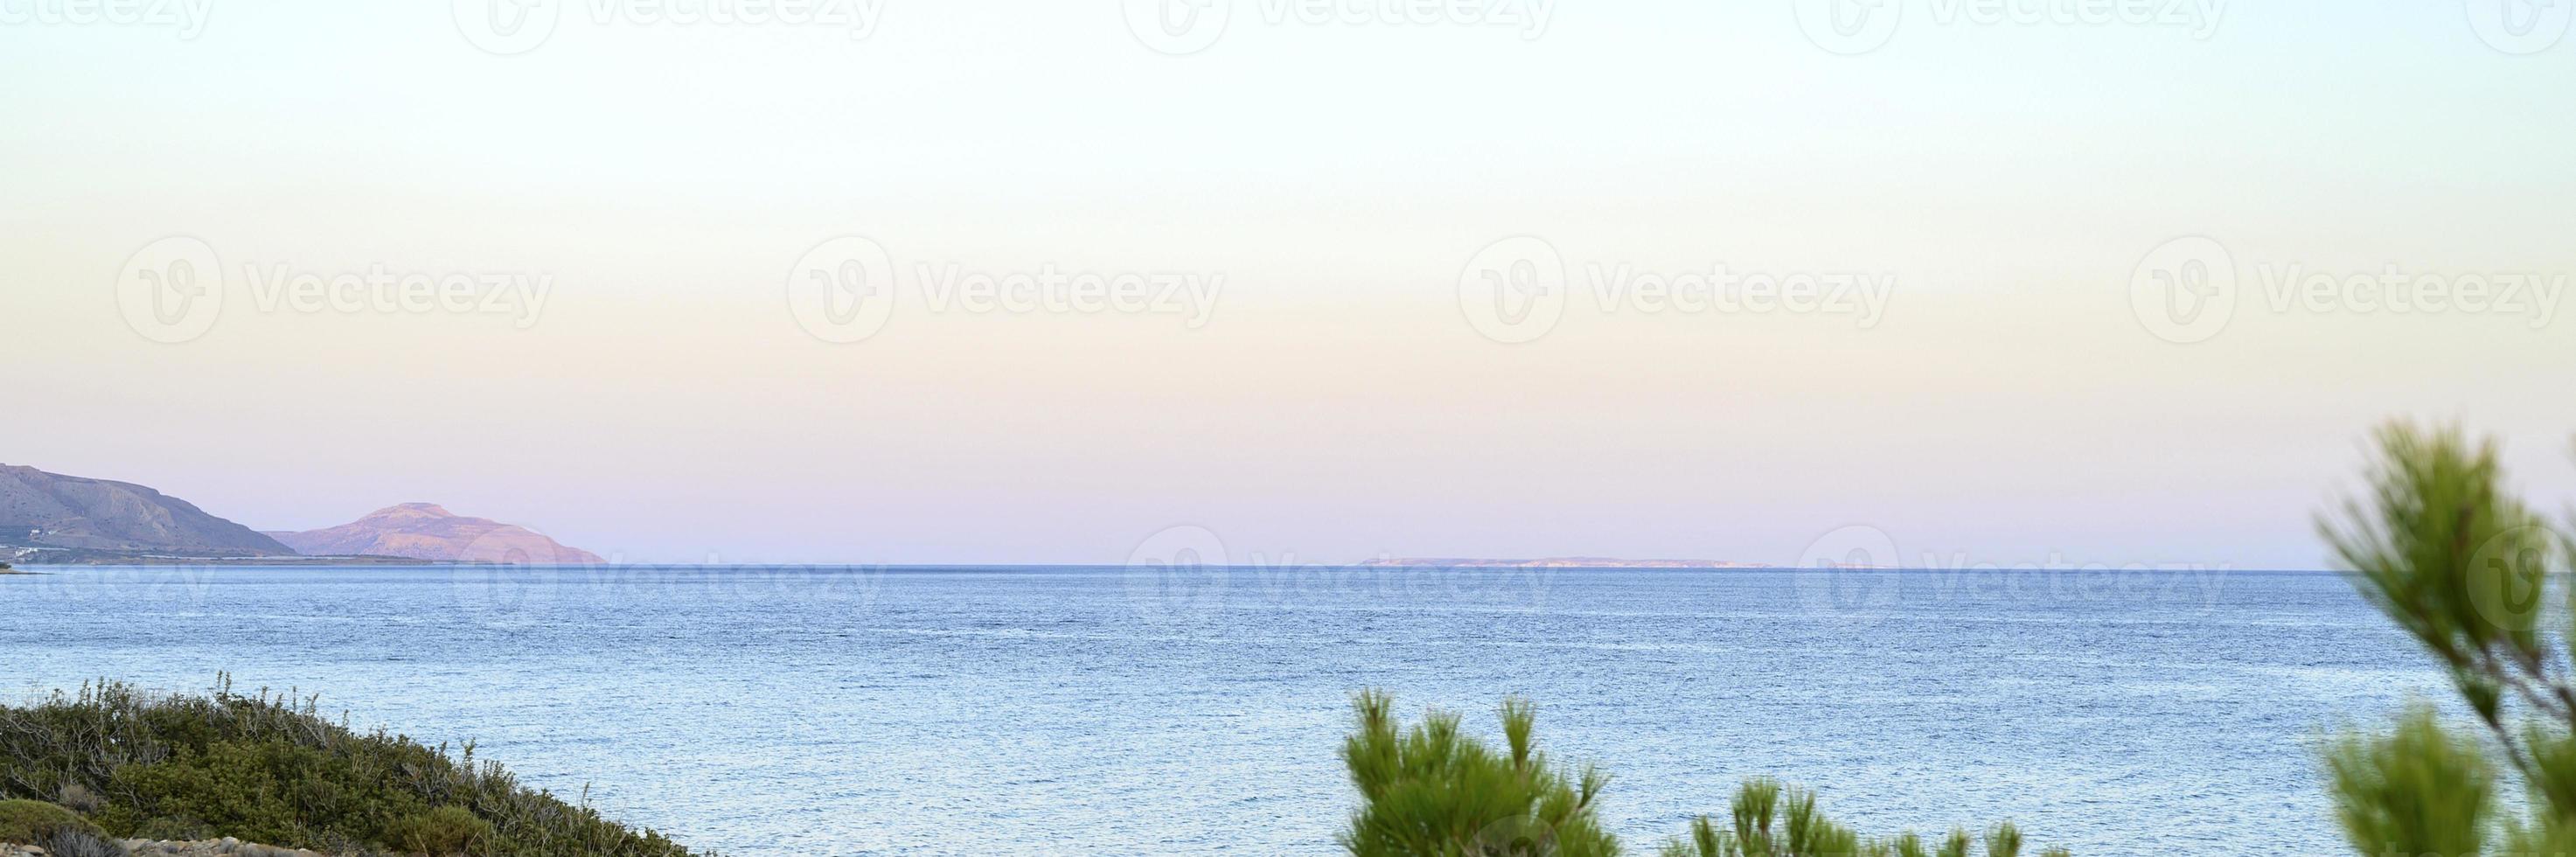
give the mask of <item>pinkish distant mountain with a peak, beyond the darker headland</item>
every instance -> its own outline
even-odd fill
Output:
[[[487,517],[464,517],[430,502],[384,507],[327,530],[268,535],[307,556],[379,553],[523,566],[605,564],[598,553],[559,546],[536,530]]]

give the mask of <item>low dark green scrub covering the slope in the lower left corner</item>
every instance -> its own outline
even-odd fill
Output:
[[[118,836],[237,836],[330,854],[685,857],[585,806],[404,736],[355,733],[312,697],[149,697],[90,685],[0,708],[0,798],[82,795]]]

